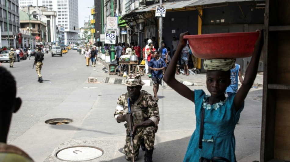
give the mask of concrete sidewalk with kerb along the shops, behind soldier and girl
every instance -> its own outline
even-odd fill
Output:
[[[105,63],[104,60],[100,60],[100,63],[102,63],[107,69],[109,69],[109,64]],[[244,77],[244,76],[243,76]],[[206,73],[200,73],[200,74],[190,74],[188,76],[186,75],[175,75],[175,78],[185,84],[185,85],[195,85],[195,86],[206,86]],[[118,75],[109,75],[107,74],[105,83],[111,83],[111,84],[124,84],[125,83],[125,77],[118,76]],[[148,77],[148,74],[145,74],[145,76],[142,76],[142,81],[146,84],[144,86],[152,86],[151,78]],[[162,86],[166,86],[167,84],[162,81]],[[257,74],[256,79],[254,81],[253,86],[256,87],[263,87],[263,72],[260,72]]]

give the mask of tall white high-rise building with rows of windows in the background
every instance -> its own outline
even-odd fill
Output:
[[[56,11],[56,24],[65,31],[64,44],[78,42],[78,0],[19,0],[19,5],[45,6],[48,11]]]

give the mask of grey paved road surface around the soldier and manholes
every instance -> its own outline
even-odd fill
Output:
[[[9,68],[17,81],[17,96],[23,100],[19,112],[13,116],[8,142],[24,149],[37,161],[58,161],[56,151],[75,145],[91,145],[104,153],[91,161],[126,161],[120,152],[124,145],[125,129],[113,117],[116,100],[125,92],[124,85],[103,81],[103,66],[86,67],[84,55],[70,50],[63,57],[45,54],[42,76],[37,82],[33,60],[23,60]],[[196,75],[197,76],[197,75]],[[96,77],[97,84],[89,84],[88,77]],[[191,86],[191,89],[205,87]],[[144,86],[153,93],[153,88]],[[246,99],[239,124],[235,129],[237,160],[259,150],[262,89],[251,91]],[[154,161],[182,161],[187,143],[195,129],[194,104],[164,86],[158,92],[161,121],[156,134]],[[48,125],[45,120],[70,118],[66,125]],[[143,161],[144,152],[137,161]]]

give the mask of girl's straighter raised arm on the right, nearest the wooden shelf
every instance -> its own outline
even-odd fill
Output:
[[[252,59],[247,67],[245,78],[241,85],[241,88],[239,89],[234,98],[234,106],[236,111],[238,111],[241,108],[241,105],[243,104],[245,98],[247,97],[248,92],[250,91],[257,75],[260,55],[264,44],[264,33],[263,33],[264,31],[263,30],[257,31],[260,32],[260,35],[255,43],[255,49],[252,55]]]

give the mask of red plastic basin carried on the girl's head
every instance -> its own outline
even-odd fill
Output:
[[[253,54],[259,32],[187,35],[190,49],[201,59],[243,58]]]

